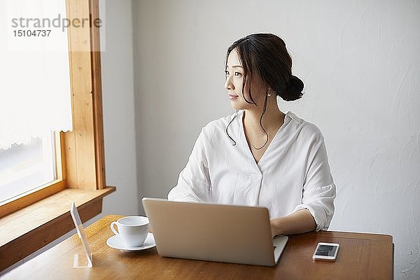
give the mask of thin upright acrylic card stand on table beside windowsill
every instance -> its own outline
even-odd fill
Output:
[[[70,209],[71,218],[73,218],[74,225],[76,226],[78,237],[82,241],[83,250],[85,253],[83,254],[74,254],[73,256],[73,268],[89,268],[92,267],[92,252],[90,251],[89,242],[87,242],[87,238],[85,235],[85,229],[83,228],[82,221],[80,220],[80,216],[78,214],[76,205],[74,202],[71,203]]]

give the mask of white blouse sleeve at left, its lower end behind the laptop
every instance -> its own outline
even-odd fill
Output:
[[[168,200],[206,202],[209,200],[210,179],[205,134],[200,132],[186,167],[179,174],[177,185],[169,191]]]

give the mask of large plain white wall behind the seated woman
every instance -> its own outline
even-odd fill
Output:
[[[395,278],[419,279],[419,1],[133,1],[137,174],[165,197],[202,125],[230,113],[225,50],[281,36],[337,184],[330,230],[393,235]]]

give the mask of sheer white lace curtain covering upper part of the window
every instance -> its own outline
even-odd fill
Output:
[[[29,18],[34,20],[27,22]],[[33,27],[35,19],[45,18],[66,18],[65,0],[0,1],[2,149],[52,131],[72,130],[67,32],[62,27]],[[49,36],[16,36],[19,30],[39,29],[51,30]]]

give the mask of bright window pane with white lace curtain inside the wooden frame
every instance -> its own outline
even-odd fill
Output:
[[[52,25],[66,18],[66,1],[6,0],[0,10],[2,203],[62,179],[54,132],[72,125],[69,36]]]

